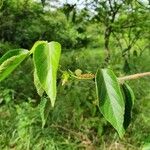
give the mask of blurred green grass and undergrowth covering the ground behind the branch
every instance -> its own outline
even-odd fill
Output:
[[[134,60],[135,66],[139,64],[139,72],[150,69],[146,55],[143,56],[145,64],[142,63],[142,57]],[[103,66],[104,56],[102,50],[90,48],[66,52],[61,57],[61,69],[72,71],[81,69],[84,73],[95,73],[98,67]],[[117,54],[114,54],[109,66],[117,75],[122,73],[123,68],[123,63],[119,60]],[[0,86],[0,149],[140,150],[143,145],[150,143],[148,78],[129,82],[135,92],[136,101],[132,122],[124,138],[119,139],[115,130],[106,122],[95,105],[93,81],[70,80],[64,86],[60,82],[56,106],[50,110],[46,126],[42,129],[40,110],[39,107],[35,107],[39,97],[31,83],[32,79],[29,78],[31,70],[27,70],[28,65],[22,72],[15,71]],[[133,73],[136,71],[132,68]],[[28,72],[25,81],[22,77],[24,72]],[[16,83],[12,82],[14,79]],[[16,84],[20,85],[22,92]]]

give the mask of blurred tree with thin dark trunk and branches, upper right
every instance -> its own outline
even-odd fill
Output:
[[[108,58],[111,53],[111,37],[120,47],[125,62],[137,42],[149,38],[146,31],[150,20],[148,3],[137,0],[95,0],[88,1],[87,6],[90,8],[92,21],[97,22],[102,27],[101,30],[104,30],[104,47]],[[147,44],[144,48],[138,46],[140,51],[145,48]]]

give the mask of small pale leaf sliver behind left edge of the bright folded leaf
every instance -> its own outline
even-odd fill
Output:
[[[44,89],[42,88],[42,85],[39,81],[39,78],[37,76],[36,70],[34,71],[34,85],[36,87],[37,93],[42,96],[44,93]]]

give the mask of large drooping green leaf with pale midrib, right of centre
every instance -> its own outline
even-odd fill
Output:
[[[117,77],[112,70],[97,71],[96,91],[101,113],[122,138],[125,132],[123,127],[125,103]]]

